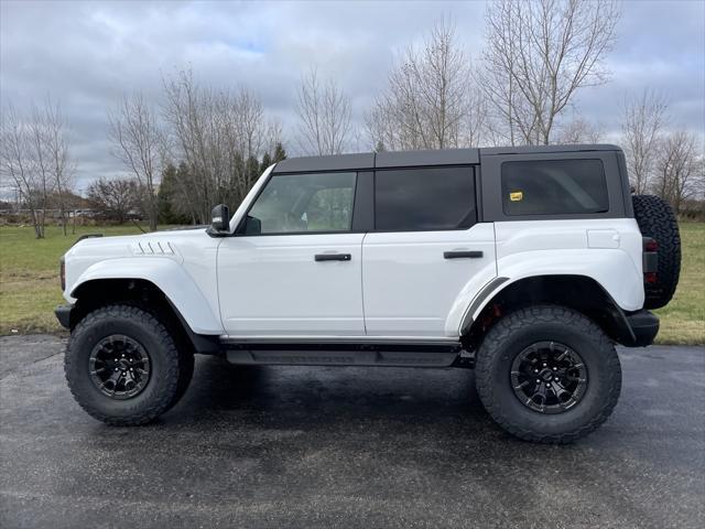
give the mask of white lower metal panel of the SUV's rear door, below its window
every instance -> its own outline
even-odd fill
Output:
[[[481,258],[445,259],[452,250]],[[368,335],[457,336],[448,315],[473,285],[497,274],[492,224],[465,230],[370,233],[362,245],[362,292]],[[463,310],[467,305],[463,306]]]

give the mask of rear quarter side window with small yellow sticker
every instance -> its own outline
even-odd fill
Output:
[[[577,215],[609,209],[600,160],[505,162],[501,180],[506,215]]]

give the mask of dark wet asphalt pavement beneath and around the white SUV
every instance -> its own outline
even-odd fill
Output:
[[[622,349],[622,397],[568,446],[494,425],[473,371],[198,358],[155,424],[106,427],[63,342],[0,338],[0,526],[705,527],[705,348]]]

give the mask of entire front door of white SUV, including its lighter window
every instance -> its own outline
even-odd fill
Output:
[[[364,234],[351,231],[356,180],[354,172],[270,177],[242,233],[218,249],[228,335],[365,334]]]

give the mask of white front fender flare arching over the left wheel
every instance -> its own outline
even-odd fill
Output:
[[[66,291],[99,279],[142,279],[156,285],[196,334],[224,334],[220,319],[181,263],[161,257],[108,259],[88,267]]]

